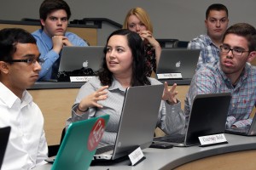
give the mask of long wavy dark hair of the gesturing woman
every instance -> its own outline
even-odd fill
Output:
[[[146,62],[145,52],[142,38],[134,31],[127,29],[121,29],[113,31],[108,37],[107,44],[104,48],[105,56],[102,59],[102,69],[99,71],[98,76],[103,86],[110,86],[113,82],[113,73],[108,70],[106,62],[107,46],[110,37],[115,35],[122,35],[127,37],[129,48],[131,48],[132,54],[132,77],[131,86],[144,86],[150,85],[148,77],[146,77]]]

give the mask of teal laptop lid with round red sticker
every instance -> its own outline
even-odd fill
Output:
[[[108,119],[104,115],[70,124],[51,169],[88,169]]]

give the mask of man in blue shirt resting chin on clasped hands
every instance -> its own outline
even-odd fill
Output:
[[[88,44],[76,34],[67,32],[71,11],[65,1],[44,0],[39,14],[42,29],[32,33],[37,39],[40,59],[44,59],[38,81],[49,81],[56,79],[63,46],[88,46]]]

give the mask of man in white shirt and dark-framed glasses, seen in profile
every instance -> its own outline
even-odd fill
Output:
[[[2,169],[31,169],[47,158],[44,117],[26,91],[38,80],[39,55],[29,32],[0,31],[0,127],[11,127]]]

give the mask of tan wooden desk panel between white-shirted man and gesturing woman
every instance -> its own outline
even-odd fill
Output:
[[[61,132],[71,116],[71,107],[79,88],[29,90],[44,115],[48,145],[60,144]]]

